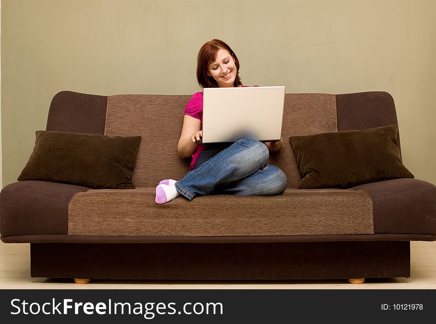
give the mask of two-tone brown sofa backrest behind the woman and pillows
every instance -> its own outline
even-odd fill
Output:
[[[106,97],[62,91],[52,100],[47,130],[141,135],[133,183],[136,187],[154,187],[163,179],[180,179],[189,171],[190,159],[179,157],[177,142],[183,110],[190,97],[144,94]],[[284,145],[271,154],[270,162],[285,172],[288,187],[296,188],[301,176],[289,136],[392,124],[397,124],[395,106],[386,92],[286,94]]]

